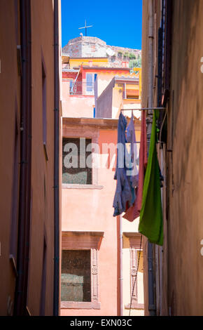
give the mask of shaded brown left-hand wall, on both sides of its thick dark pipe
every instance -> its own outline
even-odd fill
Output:
[[[15,4],[17,8],[15,10]],[[0,315],[13,313],[15,272],[10,255],[10,234],[13,230],[12,207],[19,202],[19,188],[13,196],[15,152],[15,117],[20,138],[20,75],[17,45],[20,45],[20,1],[3,0],[0,4],[1,73],[0,73],[0,149],[1,149],[1,220],[0,220]],[[16,13],[16,14],[15,14]],[[27,308],[39,315],[43,269],[43,240],[47,244],[45,315],[53,311],[54,265],[54,12],[52,0],[31,0],[31,232]],[[16,15],[16,16],[15,16]],[[19,25],[18,25],[19,23]],[[16,29],[18,26],[18,29]],[[17,36],[16,36],[17,32]],[[46,74],[48,161],[43,147],[42,56]],[[20,140],[18,140],[20,147]],[[20,171],[20,152],[17,159]],[[15,216],[18,221],[18,207]],[[17,258],[14,256],[18,268]]]

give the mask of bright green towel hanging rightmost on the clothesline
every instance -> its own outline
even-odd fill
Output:
[[[139,232],[148,237],[149,242],[163,245],[162,199],[160,188],[160,169],[156,150],[156,119],[158,111],[153,114],[151,142],[148,153],[148,164],[144,178],[144,189],[141,204]]]

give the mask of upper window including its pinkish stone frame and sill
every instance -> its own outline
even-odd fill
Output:
[[[76,119],[78,121],[78,119]],[[83,121],[83,119],[80,119]],[[73,125],[73,119],[63,118],[62,138],[62,188],[63,189],[103,189],[99,181],[99,128],[86,124]],[[66,143],[78,143],[78,150],[75,145],[71,150]],[[81,148],[80,148],[81,145]],[[86,148],[86,149],[85,149]],[[78,159],[74,168],[68,168],[66,162]],[[77,157],[75,157],[77,156]],[[86,164],[85,164],[86,161]],[[80,164],[81,163],[81,164]],[[90,166],[92,164],[92,166]]]

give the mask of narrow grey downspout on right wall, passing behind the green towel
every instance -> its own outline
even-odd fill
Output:
[[[153,0],[148,0],[148,107],[153,108]],[[147,140],[151,140],[153,111],[148,111]],[[153,275],[153,244],[148,242],[148,310],[155,316],[154,275]]]

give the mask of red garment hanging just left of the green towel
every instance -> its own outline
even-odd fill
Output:
[[[139,217],[141,211],[144,173],[147,164],[147,137],[146,137],[146,112],[141,113],[141,139],[139,148],[139,180],[134,204],[127,210],[123,218],[133,221]]]

